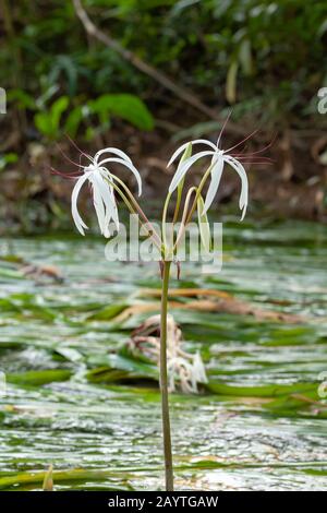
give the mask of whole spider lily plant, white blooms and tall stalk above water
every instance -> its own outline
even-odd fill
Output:
[[[223,127],[222,127],[223,130]],[[160,393],[161,393],[161,417],[162,417],[162,436],[164,436],[164,454],[165,454],[165,470],[166,470],[166,490],[173,490],[173,467],[172,467],[172,450],[171,450],[171,429],[170,429],[170,415],[169,415],[169,377],[167,365],[167,350],[168,350],[168,290],[169,279],[171,272],[171,264],[174,262],[180,266],[177,256],[178,249],[185,232],[187,225],[193,218],[193,214],[197,211],[197,223],[201,235],[201,241],[206,251],[210,251],[213,246],[210,226],[207,218],[207,211],[213,204],[217,193],[223,167],[229,165],[234,169],[241,178],[241,194],[239,205],[242,211],[242,219],[245,215],[247,206],[249,183],[243,164],[250,160],[256,162],[256,152],[251,155],[242,153],[231,154],[230,152],[238,147],[241,143],[234,145],[228,151],[219,147],[221,133],[220,131],[217,144],[207,140],[190,141],[179,147],[168,163],[170,166],[178,157],[179,164],[175,174],[171,180],[168,189],[167,198],[162,211],[162,226],[160,232],[148,220],[141,205],[138,204],[135,195],[126,184],[113,172],[112,165],[121,165],[130,169],[136,178],[138,186],[138,194],[142,192],[141,175],[136,167],[133,165],[131,158],[121,150],[114,147],[106,147],[96,153],[94,157],[80,151],[80,164],[73,163],[77,170],[68,175],[70,178],[76,180],[72,192],[72,215],[78,231],[84,235],[87,228],[82,219],[77,208],[77,198],[82,186],[89,182],[93,195],[93,203],[97,214],[98,224],[101,234],[109,238],[113,231],[120,228],[118,217],[118,206],[116,195],[118,195],[132,214],[137,214],[142,227],[152,238],[154,244],[160,253],[160,272],[161,272],[161,308],[160,308]],[[249,139],[249,138],[246,138]],[[242,141],[243,142],[243,141]],[[193,146],[205,145],[209,150],[192,154]],[[209,164],[202,175],[198,186],[186,188],[185,175],[194,164],[203,158],[209,157]],[[82,164],[84,159],[84,164]],[[265,157],[261,157],[263,162]],[[110,169],[109,169],[110,167]],[[59,172],[53,170],[55,172]],[[61,174],[61,172],[59,172]],[[204,189],[207,182],[210,181],[206,196],[204,198]],[[175,194],[174,194],[175,193]],[[173,200],[173,196],[175,199]],[[170,203],[173,200],[173,216],[172,223],[167,222],[168,213],[170,211]],[[179,222],[179,223],[178,223]],[[178,227],[175,232],[174,228]],[[112,229],[111,229],[112,228]],[[179,274],[179,272],[178,272]],[[173,370],[172,370],[173,371]]]

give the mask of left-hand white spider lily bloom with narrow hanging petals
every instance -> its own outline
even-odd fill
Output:
[[[105,154],[113,154],[114,156],[101,159],[100,157],[105,157]],[[78,213],[77,199],[83,184],[88,181],[92,187],[93,203],[101,234],[105,237],[110,237],[109,225],[112,220],[116,229],[119,230],[119,218],[114,199],[114,188],[112,186],[114,175],[109,171],[107,165],[116,163],[128,167],[136,178],[138,195],[142,192],[141,176],[137,169],[133,166],[131,158],[121,150],[107,147],[105,150],[100,150],[94,157],[90,157],[89,155],[86,156],[90,164],[85,167],[81,166],[83,167],[83,174],[77,178],[72,192],[73,219],[80,234],[85,235],[84,229],[87,229],[87,226]]]

